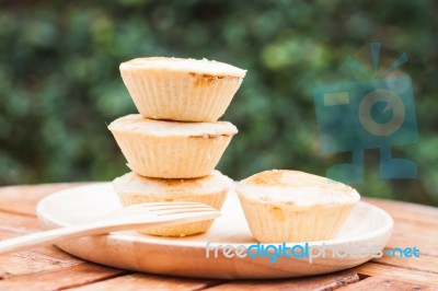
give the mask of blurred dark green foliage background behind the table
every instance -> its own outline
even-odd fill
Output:
[[[418,178],[381,179],[370,150],[366,181],[354,186],[438,205],[437,14],[433,0],[1,1],[0,184],[127,172],[106,124],[136,112],[118,66],[140,56],[249,70],[222,117],[240,129],[219,164],[230,177],[267,168],[324,175],[349,155],[319,152],[313,88],[349,81],[345,58],[367,56],[377,40],[388,59],[410,57],[403,71],[414,82],[420,141],[395,153],[417,163]]]

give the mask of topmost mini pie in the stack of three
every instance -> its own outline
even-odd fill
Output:
[[[145,117],[216,121],[230,105],[246,71],[207,59],[154,57],[123,62],[120,73]]]

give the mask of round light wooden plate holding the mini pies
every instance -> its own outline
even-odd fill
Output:
[[[38,203],[37,214],[46,229],[53,229],[88,221],[119,207],[111,184],[97,183],[46,197]],[[323,244],[338,247],[336,252],[342,257],[333,257],[328,249],[325,257],[313,258],[312,263],[309,258],[293,257],[281,257],[275,263],[269,263],[268,257],[226,258],[220,252],[215,258],[214,251],[207,258],[207,242],[212,242],[211,246],[234,247],[249,247],[256,243],[234,193],[228,195],[221,212],[222,217],[215,221],[212,228],[200,235],[168,238],[127,231],[65,241],[57,246],[87,260],[136,271],[221,279],[291,278],[343,270],[371,259],[370,254],[355,256],[351,255],[354,251],[345,253],[343,249],[348,245],[351,249],[359,246],[362,251],[367,247],[382,249],[393,226],[393,220],[387,212],[360,201],[335,240],[309,243],[310,247]]]

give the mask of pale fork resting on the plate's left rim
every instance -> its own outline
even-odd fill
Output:
[[[80,236],[172,226],[218,217],[220,217],[220,212],[217,209],[198,202],[132,205],[112,211],[90,222],[0,241],[0,255]]]

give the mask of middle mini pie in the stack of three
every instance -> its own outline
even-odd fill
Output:
[[[161,121],[140,114],[120,117],[108,129],[134,172],[161,178],[209,175],[238,132],[227,121]]]

